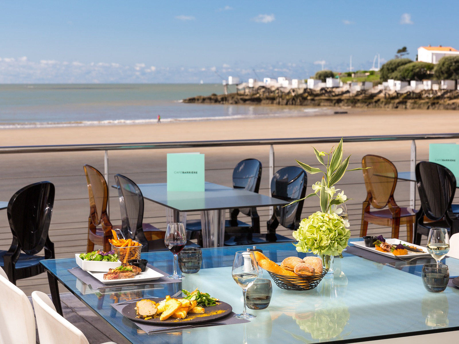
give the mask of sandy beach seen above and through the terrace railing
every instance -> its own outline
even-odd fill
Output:
[[[457,132],[459,128],[458,111],[366,111],[346,109],[347,114],[320,115],[289,118],[258,118],[213,120],[200,122],[178,122],[148,125],[99,125],[84,127],[49,127],[31,129],[3,129],[0,135],[1,146],[90,144],[90,143],[131,143],[165,141],[202,141],[229,139],[295,138],[321,136],[353,135],[393,135],[430,134]],[[441,141],[437,141],[441,142]],[[451,140],[444,140],[451,142]],[[417,141],[418,161],[428,159],[428,144],[431,141]],[[399,171],[409,170],[410,141],[348,143],[345,154],[353,154],[351,164],[358,167],[362,156],[373,153],[392,160]],[[315,145],[319,150],[330,150],[331,144]],[[295,159],[315,164],[316,159],[309,145],[275,146],[275,169],[295,165]],[[165,182],[166,154],[196,150],[158,149],[110,151],[110,185],[113,175],[127,175],[136,183]],[[244,158],[258,158],[263,163],[263,176],[260,192],[268,194],[269,146],[223,147],[200,150],[206,154],[206,180],[231,186],[231,174],[235,164]],[[86,245],[89,201],[83,165],[90,164],[103,171],[103,152],[75,153],[37,153],[3,154],[0,200],[9,198],[22,186],[40,180],[50,180],[56,186],[56,201],[51,222],[50,237],[56,245],[59,258],[71,257],[83,252]],[[308,175],[310,185],[318,177]],[[349,172],[339,186],[348,197],[353,236],[360,230],[361,204],[366,196],[363,177],[360,171]],[[113,190],[113,189],[112,189]],[[118,195],[111,190],[110,218],[114,225],[121,223]],[[399,205],[407,205],[409,183],[399,182],[396,200]],[[303,215],[307,216],[318,208],[317,199],[305,202]],[[260,209],[262,231],[268,220],[268,209]],[[199,214],[189,214],[197,218]],[[244,220],[244,218],[241,218]],[[145,222],[165,228],[165,210],[159,205],[146,202]],[[7,249],[11,243],[11,232],[6,219],[6,210],[0,216],[0,249]],[[373,226],[369,232],[386,234],[390,228]],[[291,230],[279,229],[282,235],[290,235]],[[400,229],[400,238],[406,230]],[[18,282],[28,289],[36,285],[46,291],[46,276]]]

